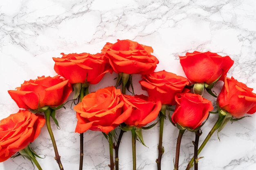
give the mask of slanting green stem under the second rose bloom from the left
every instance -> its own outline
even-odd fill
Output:
[[[56,141],[55,141],[55,139],[54,139],[54,135],[53,135],[52,128],[51,128],[51,123],[50,123],[50,116],[51,116],[51,113],[52,113],[52,109],[51,109],[51,108],[48,108],[47,110],[45,110],[44,113],[45,113],[45,119],[46,119],[47,130],[48,130],[49,135],[50,135],[50,137],[51,137],[52,145],[53,145],[54,152],[55,152],[55,157],[54,157],[54,159],[57,161],[60,170],[64,170],[64,169],[63,169],[63,166],[62,166],[62,163],[61,163],[61,157],[60,157],[60,155],[58,154],[58,149],[57,149]]]

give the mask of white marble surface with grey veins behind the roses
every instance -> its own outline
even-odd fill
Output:
[[[52,57],[60,53],[97,53],[106,42],[135,40],[152,46],[159,59],[157,71],[165,69],[183,75],[178,55],[212,51],[229,55],[235,64],[228,73],[256,89],[256,1],[255,0],[1,0],[0,1],[0,119],[16,113],[18,107],[7,90],[24,80],[41,75],[54,76]],[[115,84],[108,74],[90,91]],[[135,75],[135,93],[141,94]],[[222,84],[215,87],[219,93]],[[256,91],[254,91],[256,92]],[[204,97],[214,99],[209,95]],[[58,110],[61,126],[53,126],[65,170],[78,170],[79,135],[74,133],[74,110]],[[202,128],[207,135],[216,115]],[[256,169],[256,116],[229,123],[214,134],[200,156],[202,170]],[[178,130],[164,124],[162,170],[173,169]],[[193,154],[194,135],[185,132],[180,153],[180,170]],[[137,169],[156,170],[158,127],[144,131],[148,148],[137,143]],[[108,170],[108,142],[100,132],[85,133],[85,170]],[[32,144],[44,170],[58,170],[46,127]],[[1,170],[33,170],[22,157],[0,163]],[[132,169],[131,134],[125,133],[120,148],[120,169]]]

